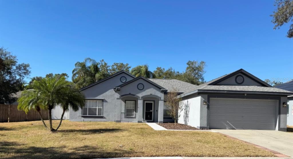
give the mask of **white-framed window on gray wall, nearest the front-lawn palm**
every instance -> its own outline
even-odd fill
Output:
[[[86,100],[82,115],[103,116],[103,100]]]

